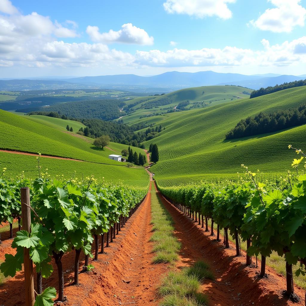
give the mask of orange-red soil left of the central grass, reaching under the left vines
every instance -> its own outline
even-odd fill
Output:
[[[150,187],[151,189],[151,187]],[[80,273],[80,285],[72,285],[74,252],[63,256],[64,305],[104,306],[104,305],[158,305],[156,286],[166,264],[152,264],[151,237],[151,192],[125,227],[116,236],[110,248],[104,248],[105,254],[99,254],[98,262],[91,262],[95,269]],[[0,246],[2,248],[2,246]],[[99,244],[100,248],[100,244]],[[81,258],[80,270],[84,263]],[[57,269],[47,280],[43,279],[43,288],[57,287]],[[34,275],[34,287],[36,275]],[[18,273],[9,278],[0,287],[0,304],[5,306],[24,304],[24,276]]]

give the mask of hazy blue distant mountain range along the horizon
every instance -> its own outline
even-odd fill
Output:
[[[39,80],[0,80],[0,90],[33,90],[60,88],[109,88],[138,92],[173,91],[180,88],[207,85],[237,85],[252,89],[274,86],[284,82],[305,79],[306,75],[244,75],[239,73],[218,73],[213,71],[177,72],[171,71],[155,76],[119,74],[107,76],[83,76],[67,79],[41,78]]]

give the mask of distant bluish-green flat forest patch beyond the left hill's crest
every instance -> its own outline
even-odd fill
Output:
[[[119,109],[124,105],[124,102],[117,100],[76,101],[45,106],[43,111],[56,112],[72,118],[109,121],[125,115],[125,112],[120,112]]]

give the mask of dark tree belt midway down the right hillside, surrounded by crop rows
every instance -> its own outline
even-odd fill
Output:
[[[306,123],[306,104],[274,113],[259,113],[242,119],[225,136],[226,139],[241,138],[288,129]]]

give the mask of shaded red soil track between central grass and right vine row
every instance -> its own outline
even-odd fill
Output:
[[[156,186],[155,186],[156,188]],[[215,281],[207,280],[201,287],[207,294],[210,306],[285,306],[304,305],[305,291],[295,286],[294,291],[300,297],[299,303],[293,303],[282,296],[286,289],[286,280],[271,267],[266,267],[268,278],[258,278],[259,268],[246,267],[246,254],[236,255],[235,245],[225,249],[195,221],[171,205],[161,194],[158,196],[170,212],[175,222],[175,235],[182,244],[178,267],[203,260],[210,264]],[[223,239],[222,239],[223,241]],[[260,267],[260,263],[259,263]]]

